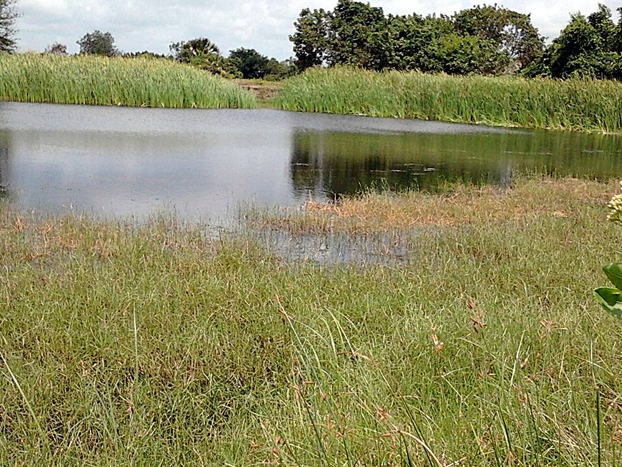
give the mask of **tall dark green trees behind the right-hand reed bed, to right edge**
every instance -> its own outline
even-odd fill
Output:
[[[301,70],[351,65],[450,75],[622,79],[622,19],[615,24],[605,5],[587,17],[572,15],[549,46],[530,15],[497,5],[452,16],[385,15],[369,3],[339,0],[332,11],[305,8],[294,27],[290,40]]]

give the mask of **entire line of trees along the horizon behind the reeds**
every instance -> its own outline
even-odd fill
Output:
[[[0,0],[0,51],[15,50],[16,0]],[[622,80],[622,7],[617,24],[600,4],[596,12],[571,15],[548,46],[531,17],[502,6],[474,6],[454,15],[386,15],[382,8],[338,0],[333,10],[305,8],[290,41],[295,59],[279,62],[253,48],[225,57],[205,37],[176,42],[169,55],[121,53],[110,33],[80,39],[80,53],[175,59],[225,77],[280,80],[312,66],[349,65],[370,70],[449,75],[522,74],[528,77],[595,77]],[[48,53],[66,54],[63,44]]]

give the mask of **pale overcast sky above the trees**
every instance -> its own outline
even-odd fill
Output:
[[[476,4],[464,0],[371,0],[385,13],[451,15]],[[482,1],[483,3],[483,1]],[[489,3],[493,3],[490,0]],[[540,34],[553,39],[572,12],[589,14],[594,0],[499,1],[506,8],[531,13]],[[619,0],[603,1],[612,10]],[[617,3],[617,4],[616,4]],[[305,8],[331,9],[337,0],[17,0],[21,51],[43,51],[54,42],[77,51],[75,42],[95,29],[110,31],[124,52],[168,53],[169,44],[194,37],[209,37],[227,53],[237,47],[256,48],[263,55],[285,59],[292,54],[288,36]]]

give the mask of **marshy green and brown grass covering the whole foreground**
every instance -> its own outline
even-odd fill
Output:
[[[614,465],[622,324],[591,289],[620,244],[616,190],[308,208],[410,229],[382,267],[0,205],[0,464]]]

